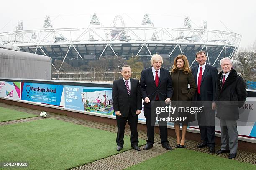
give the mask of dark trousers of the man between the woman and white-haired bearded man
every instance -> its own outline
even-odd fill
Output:
[[[202,107],[201,97],[197,94],[197,107]],[[197,113],[201,140],[210,147],[215,147],[215,115],[214,110],[204,107],[202,113]]]

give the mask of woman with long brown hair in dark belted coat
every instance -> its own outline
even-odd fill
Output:
[[[189,68],[189,62],[185,55],[178,55],[174,59],[174,63],[171,70],[172,76],[172,85],[174,87],[174,92],[172,95],[172,104],[177,104],[179,106],[189,105],[189,102],[186,102],[185,105],[181,105],[181,102],[175,101],[190,101],[195,95],[197,90],[195,79]],[[188,88],[188,84],[190,88]],[[174,101],[174,102],[173,102]],[[190,106],[190,105],[189,105]],[[175,106],[174,106],[175,107]],[[185,147],[185,137],[187,132],[187,123],[195,121],[195,115],[187,112],[176,112],[174,113],[174,120],[176,116],[185,116],[187,119],[185,121],[174,121],[174,128],[177,138],[177,148]],[[182,123],[182,136],[180,136],[180,123]]]

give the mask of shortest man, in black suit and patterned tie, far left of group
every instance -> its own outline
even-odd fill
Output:
[[[140,84],[138,80],[131,78],[130,66],[124,65],[121,74],[123,78],[115,80],[112,89],[113,108],[118,126],[117,151],[123,148],[124,130],[127,121],[131,130],[131,146],[139,151],[137,124],[138,115],[142,109]]]

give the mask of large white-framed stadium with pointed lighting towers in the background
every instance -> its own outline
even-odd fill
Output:
[[[125,26],[120,15],[115,16],[112,27],[103,27],[94,13],[86,28],[54,28],[46,16],[42,29],[23,30],[23,22],[18,22],[15,31],[0,33],[2,45],[15,45],[20,51],[46,55],[62,64],[76,60],[77,66],[102,57],[147,59],[156,53],[172,61],[179,54],[186,55],[193,66],[196,52],[205,50],[208,63],[219,67],[221,58],[235,56],[240,40],[237,33],[207,29],[207,22],[192,28],[189,17],[181,28],[155,27],[147,13],[140,27]]]

